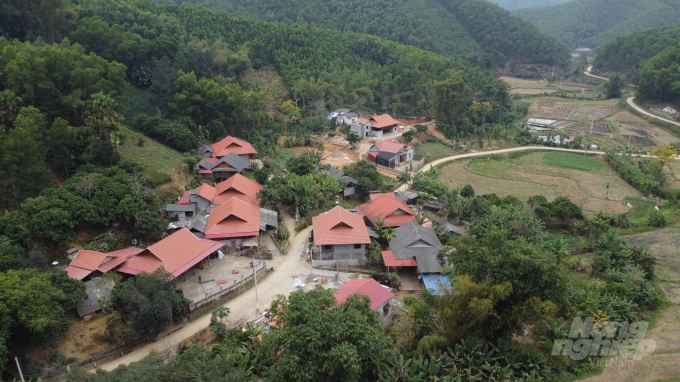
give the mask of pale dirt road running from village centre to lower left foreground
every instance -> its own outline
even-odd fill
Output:
[[[293,228],[289,229],[291,232],[295,232]],[[295,290],[295,287],[293,287],[294,278],[300,274],[309,273],[309,268],[307,267],[306,263],[300,260],[300,254],[302,253],[303,246],[305,245],[306,239],[309,236],[309,231],[311,229],[312,227],[308,227],[295,235],[293,241],[291,242],[291,247],[288,251],[288,254],[285,256],[279,255],[276,257],[280,260],[280,262],[276,261],[276,258],[274,261],[267,262],[267,267],[273,266],[274,272],[270,273],[267,278],[261,282],[258,282],[257,293],[260,310],[268,307],[276,295],[289,294],[290,292],[293,292]],[[271,263],[274,264],[270,265]],[[245,293],[224,304],[224,306],[231,310],[229,313],[229,318],[231,319],[235,320],[244,315],[254,316],[256,309],[255,288],[249,289]],[[210,314],[206,314],[187,323],[187,325],[182,329],[169,335],[168,337],[165,337],[164,339],[157,342],[150,343],[114,361],[100,365],[100,367],[104,370],[110,371],[120,365],[127,365],[131,362],[139,361],[147,356],[152,350],[163,352],[165,350],[172,349],[180,342],[190,338],[194,334],[208,327],[209,324]]]

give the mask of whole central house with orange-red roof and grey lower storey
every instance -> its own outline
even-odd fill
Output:
[[[336,206],[312,218],[312,240],[319,260],[363,261],[371,237],[362,217]]]

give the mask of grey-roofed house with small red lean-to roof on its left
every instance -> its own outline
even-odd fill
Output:
[[[383,260],[388,267],[416,267],[418,273],[440,273],[442,266],[437,255],[443,248],[437,234],[410,221],[397,228],[390,249],[383,251]]]

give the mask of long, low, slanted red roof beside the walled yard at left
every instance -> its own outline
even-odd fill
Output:
[[[127,259],[119,272],[136,275],[139,272],[152,273],[161,266],[173,276],[179,276],[224,243],[199,239],[186,228],[150,246],[143,253]]]

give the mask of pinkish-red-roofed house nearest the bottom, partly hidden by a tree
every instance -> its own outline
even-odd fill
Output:
[[[371,300],[371,310],[378,313],[383,325],[392,321],[394,295],[386,287],[373,279],[354,279],[342,284],[333,296],[338,304],[342,304],[355,294],[365,295]]]

